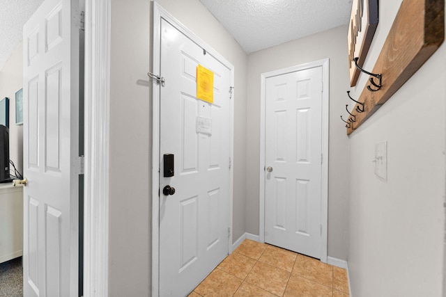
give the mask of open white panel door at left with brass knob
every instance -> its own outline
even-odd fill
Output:
[[[79,3],[24,26],[24,296],[78,296]]]

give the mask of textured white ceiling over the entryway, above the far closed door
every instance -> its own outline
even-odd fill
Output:
[[[249,54],[348,24],[351,0],[200,0]]]

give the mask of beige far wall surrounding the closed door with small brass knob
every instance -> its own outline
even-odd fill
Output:
[[[339,120],[348,87],[347,27],[310,35],[248,56],[247,171],[259,172],[260,74],[330,58],[328,256],[347,259],[348,138]],[[247,175],[247,232],[259,234],[259,174]]]

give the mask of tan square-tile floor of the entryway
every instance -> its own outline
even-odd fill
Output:
[[[247,239],[189,296],[349,295],[345,269]]]

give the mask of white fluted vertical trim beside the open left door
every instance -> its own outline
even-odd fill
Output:
[[[110,0],[85,8],[84,296],[108,296]]]

